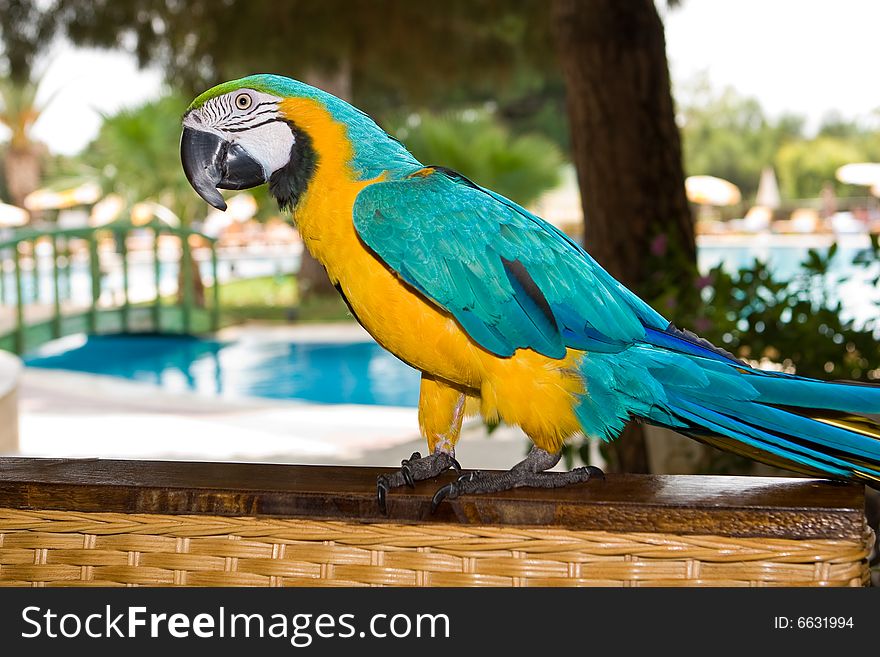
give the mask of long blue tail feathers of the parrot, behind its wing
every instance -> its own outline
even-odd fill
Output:
[[[618,354],[587,353],[577,412],[608,439],[630,417],[811,475],[880,486],[880,386],[752,369],[675,330]]]

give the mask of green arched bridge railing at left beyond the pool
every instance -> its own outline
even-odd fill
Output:
[[[131,257],[129,236],[152,236],[152,249],[138,251],[150,254],[155,298],[131,299]],[[160,260],[159,238],[173,235],[180,240],[178,260],[178,293],[163,298],[161,279],[168,262]],[[102,240],[112,239],[120,259],[122,300],[102,304],[106,291],[105,271],[101,267]],[[196,293],[193,275],[195,258],[193,244],[210,249],[213,285],[210,297]],[[78,243],[79,242],[79,243]],[[85,244],[82,244],[85,242]],[[38,244],[51,250],[51,272],[41,278]],[[106,251],[106,250],[105,250]],[[71,303],[74,256],[87,257],[89,302],[85,307]],[[6,280],[12,269],[12,286]],[[135,226],[129,222],[113,222],[104,226],[50,230],[22,230],[14,238],[0,241],[0,349],[26,353],[48,340],[74,333],[205,333],[216,331],[220,323],[219,285],[217,284],[216,240],[188,228],[169,226],[158,220]],[[29,283],[29,285],[26,285]],[[12,287],[12,289],[8,289]],[[25,294],[25,290],[29,294]],[[118,291],[118,290],[117,290]],[[49,298],[46,298],[46,297]]]

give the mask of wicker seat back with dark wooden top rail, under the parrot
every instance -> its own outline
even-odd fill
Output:
[[[0,459],[0,584],[861,586],[860,486],[609,476],[375,503],[372,468]]]

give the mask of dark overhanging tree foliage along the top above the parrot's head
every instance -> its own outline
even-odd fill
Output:
[[[78,45],[133,46],[189,93],[256,72],[347,71],[370,112],[556,67],[545,0],[55,0],[35,12]],[[0,13],[0,17],[3,14]],[[195,27],[194,27],[195,26]],[[16,52],[24,44],[16,44]]]

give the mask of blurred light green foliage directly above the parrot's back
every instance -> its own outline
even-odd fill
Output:
[[[486,111],[412,115],[396,132],[421,162],[454,169],[520,204],[559,184],[562,156],[553,142],[511,136]]]

